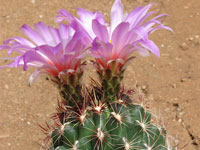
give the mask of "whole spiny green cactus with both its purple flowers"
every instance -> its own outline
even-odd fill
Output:
[[[13,37],[0,49],[20,55],[2,67],[35,67],[30,85],[40,74],[47,74],[61,96],[53,126],[42,127],[50,140],[50,150],[165,150],[166,130],[154,124],[152,114],[135,103],[130,90],[121,82],[134,53],[156,56],[160,52],[149,34],[168,29],[156,16],[147,17],[152,4],[123,14],[121,0],[111,9],[110,25],[98,12],[78,9],[79,18],[65,10],[56,17],[57,28],[40,22],[34,29],[23,25],[21,31],[30,39]],[[67,22],[67,25],[63,22]],[[82,82],[85,56],[90,55],[99,81],[91,87]],[[48,143],[48,142],[47,142]]]

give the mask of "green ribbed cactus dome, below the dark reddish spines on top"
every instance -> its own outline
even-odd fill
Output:
[[[142,106],[113,103],[94,110],[52,132],[54,150],[166,149],[165,134]]]

